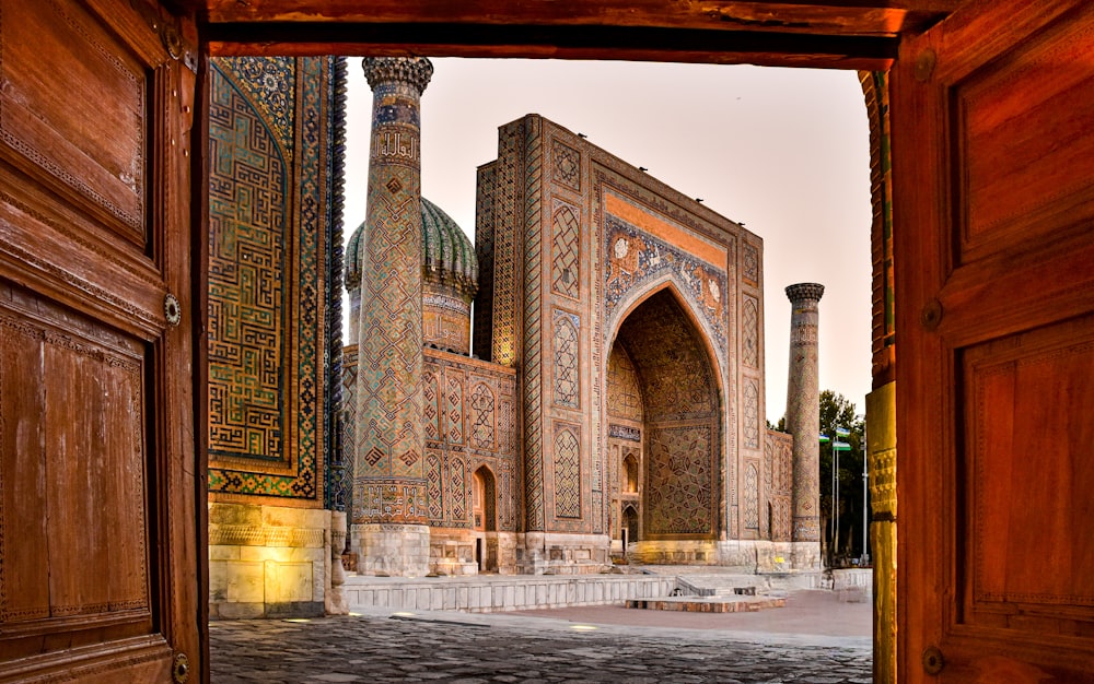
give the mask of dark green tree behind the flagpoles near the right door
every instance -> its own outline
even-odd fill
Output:
[[[839,499],[833,507],[833,445],[836,428],[845,428],[850,434],[839,436],[839,441],[850,445],[850,449],[839,451],[839,469],[836,473]],[[821,434],[829,438],[821,444],[821,517],[824,526],[825,555],[829,565],[839,566],[845,559],[862,555],[862,471],[863,435],[865,425],[854,411],[854,404],[842,394],[831,390],[821,392]],[[834,511],[839,511],[839,529],[836,530]]]

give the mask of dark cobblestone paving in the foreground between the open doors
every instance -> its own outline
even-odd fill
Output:
[[[680,636],[655,629],[575,630],[538,621],[499,624],[392,616],[210,624],[221,682],[721,682],[866,683],[871,653],[849,645],[780,644],[775,635]],[[577,628],[589,628],[577,626]]]

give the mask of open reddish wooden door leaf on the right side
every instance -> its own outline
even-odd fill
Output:
[[[1094,3],[892,73],[905,682],[1094,681]]]

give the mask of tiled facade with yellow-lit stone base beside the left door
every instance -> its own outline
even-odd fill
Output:
[[[340,612],[346,62],[210,59],[201,444],[213,617]]]

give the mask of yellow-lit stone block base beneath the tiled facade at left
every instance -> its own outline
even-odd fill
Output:
[[[345,613],[344,544],[345,514],[210,502],[210,618]]]

